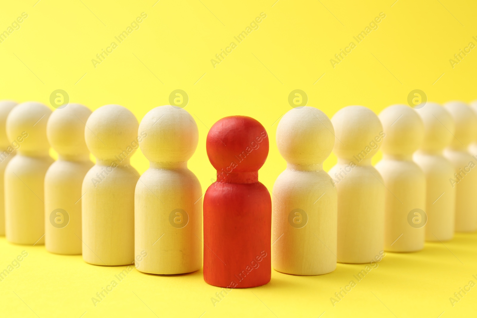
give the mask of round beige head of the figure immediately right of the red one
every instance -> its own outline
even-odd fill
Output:
[[[321,110],[293,108],[278,123],[278,150],[289,164],[322,164],[333,149],[333,134],[333,125]]]

